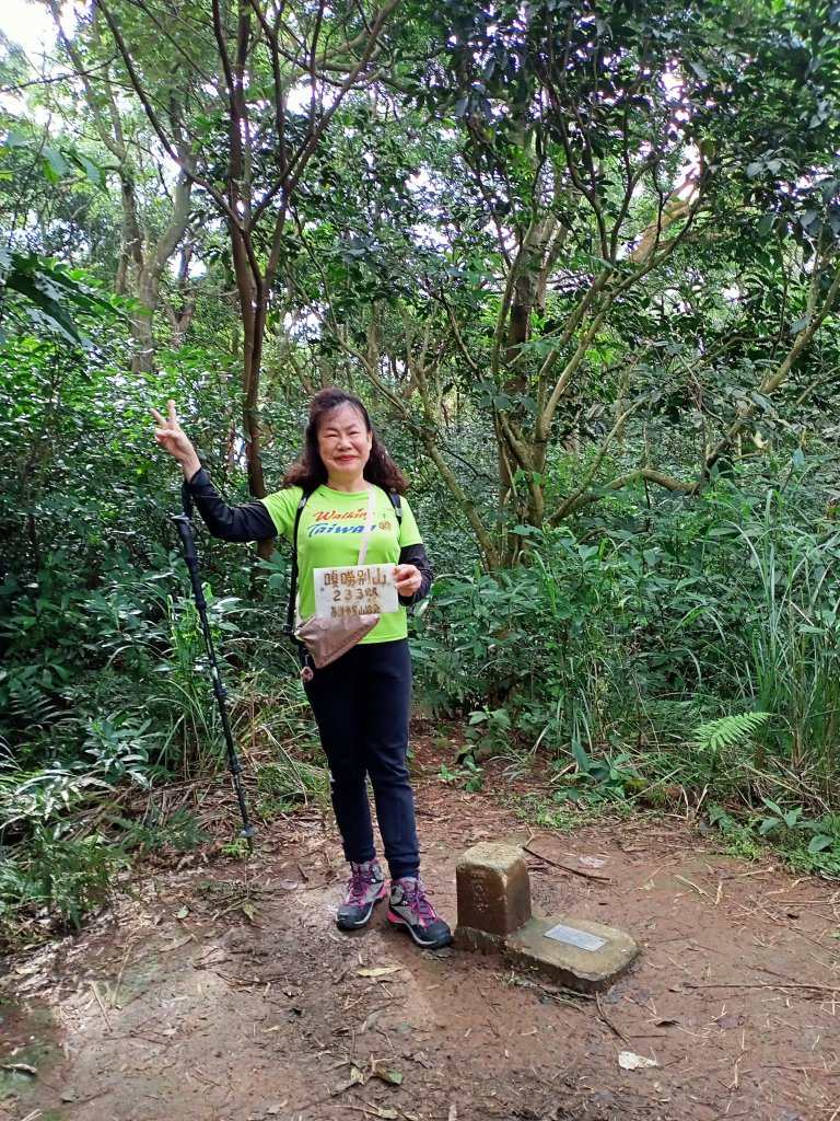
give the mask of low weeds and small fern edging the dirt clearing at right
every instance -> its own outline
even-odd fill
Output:
[[[717,835],[728,855],[772,854],[791,871],[840,879],[840,814],[821,796],[815,777],[794,776],[777,762],[755,766],[750,738],[767,720],[766,713],[725,717],[668,749],[590,753],[572,743],[562,758],[522,758],[510,741],[507,751],[476,751],[470,729],[460,736],[436,735],[431,744],[448,757],[439,766],[444,782],[497,794],[534,826],[571,832],[595,821],[620,827],[679,817],[707,843]]]

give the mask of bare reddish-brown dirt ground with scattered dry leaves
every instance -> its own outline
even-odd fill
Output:
[[[442,785],[428,743],[418,761],[445,918],[465,849],[526,843],[534,911],[628,930],[634,971],[575,997],[494,956],[420,952],[384,905],[342,934],[336,837],[302,809],[250,860],[147,870],[81,934],[6,962],[0,1118],[840,1119],[834,884],[716,854],[676,818],[531,830]]]

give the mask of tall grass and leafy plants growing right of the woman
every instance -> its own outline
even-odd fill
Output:
[[[768,713],[744,761],[837,806],[840,531],[766,484],[645,522],[533,534],[512,572],[441,578],[413,640],[421,698],[504,706],[519,752],[682,744],[687,766],[699,724]]]

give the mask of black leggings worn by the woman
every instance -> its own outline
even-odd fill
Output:
[[[375,855],[370,777],[391,878],[417,876],[420,855],[409,745],[411,656],[408,639],[354,646],[305,685],[329,763],[333,808],[344,855]]]

